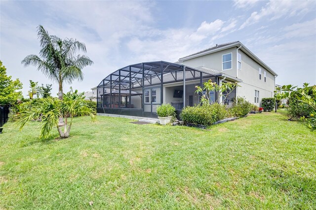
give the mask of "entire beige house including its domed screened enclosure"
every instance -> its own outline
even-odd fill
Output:
[[[97,112],[156,117],[158,105],[170,103],[179,113],[184,106],[199,104],[196,86],[209,79],[240,85],[222,99],[219,93],[211,93],[212,101],[231,105],[241,96],[260,106],[262,98],[274,96],[276,76],[241,42],[220,44],[176,63],[144,62],[116,70],[96,87]]]

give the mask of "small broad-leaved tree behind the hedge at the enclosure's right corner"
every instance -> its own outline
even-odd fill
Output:
[[[236,89],[236,87],[238,86],[239,85],[237,85],[237,83],[231,83],[231,82],[225,82],[225,83],[222,83],[221,85],[218,85],[216,82],[212,82],[212,80],[209,79],[208,81],[203,83],[203,88],[200,86],[196,86],[197,88],[196,93],[202,95],[201,100],[200,100],[200,103],[202,105],[210,105],[210,104],[218,103],[219,99],[222,97],[226,99],[229,96],[229,94],[232,93],[234,89]],[[219,93],[218,98],[215,101],[211,99],[210,94],[212,92]],[[226,96],[223,95],[224,92],[227,93],[225,94]],[[225,101],[225,99],[223,101]]]

